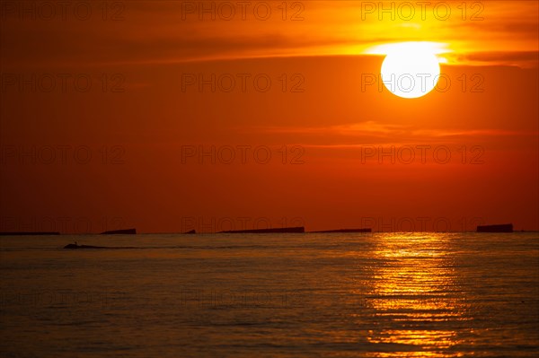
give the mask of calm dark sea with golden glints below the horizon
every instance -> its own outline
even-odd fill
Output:
[[[539,354],[537,233],[1,237],[0,269],[2,357]]]

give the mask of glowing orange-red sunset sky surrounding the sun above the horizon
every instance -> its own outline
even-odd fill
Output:
[[[81,3],[1,3],[0,231],[539,230],[535,1]]]

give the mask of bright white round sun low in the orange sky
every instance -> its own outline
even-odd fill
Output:
[[[440,77],[435,51],[418,43],[394,44],[382,63],[381,81],[393,94],[418,98],[431,92]]]

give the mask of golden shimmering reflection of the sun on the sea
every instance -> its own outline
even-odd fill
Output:
[[[374,274],[369,302],[379,322],[392,323],[391,327],[370,330],[367,339],[378,345],[401,345],[403,350],[410,351],[367,356],[462,356],[447,352],[448,348],[459,344],[457,332],[449,326],[439,329],[445,321],[454,324],[455,320],[469,319],[464,316],[465,304],[455,291],[447,234],[385,235],[378,244],[374,255],[387,260],[387,264]]]

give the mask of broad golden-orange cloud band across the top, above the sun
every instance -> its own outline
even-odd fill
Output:
[[[122,3],[126,8],[116,22],[102,21],[97,6],[90,21],[30,21],[3,13],[3,64],[35,65],[36,59],[47,65],[107,65],[358,55],[375,45],[399,41],[448,43],[456,61],[450,64],[456,65],[537,63],[539,5],[530,1],[484,3],[482,21],[472,20],[478,9],[459,13],[456,4],[446,21],[433,17],[432,8],[426,20],[418,13],[411,21],[387,15],[380,21],[377,13],[367,16],[362,8],[366,2],[359,1],[296,2],[303,7],[288,8],[286,13],[282,2],[266,2],[271,6],[268,20],[262,21],[251,9],[243,20],[240,9],[235,9],[232,21],[219,15],[212,20],[211,13],[202,13],[200,21],[198,12],[184,12],[184,3],[190,2]],[[217,4],[191,3],[209,8]],[[292,21],[298,12],[303,20]]]

